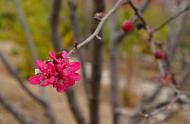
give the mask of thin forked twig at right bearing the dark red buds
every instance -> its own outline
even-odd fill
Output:
[[[179,13],[177,13],[176,15],[170,17],[168,20],[166,20],[163,24],[161,24],[160,26],[158,26],[157,28],[155,28],[154,30],[151,30],[151,28],[148,26],[148,24],[146,23],[146,20],[144,19],[143,16],[141,16],[140,12],[138,11],[138,9],[135,7],[135,5],[131,2],[131,0],[128,0],[129,5],[131,6],[131,8],[133,9],[133,11],[135,12],[135,15],[142,21],[142,23],[144,24],[145,28],[144,30],[148,33],[148,42],[150,43],[150,47],[152,49],[152,52],[155,52],[155,50],[157,49],[157,45],[154,41],[154,33],[156,33],[157,31],[161,30],[165,25],[167,25],[168,23],[170,23],[172,20],[176,19],[178,16],[180,16],[181,14],[183,14],[184,12],[186,12],[187,10],[189,10],[189,7],[186,7],[183,11],[180,11]],[[159,66],[159,70],[162,76],[164,76],[168,71],[169,71],[169,67],[165,66],[165,63],[169,63],[169,60],[157,60],[158,66]],[[169,64],[167,64],[168,66]],[[175,78],[173,77],[172,80],[172,84],[171,84],[171,88],[174,90],[174,92],[179,93],[179,90],[176,87],[176,81],[174,80]],[[179,96],[177,95],[176,97],[174,97],[173,100],[170,101],[170,103],[174,103],[177,98]],[[168,105],[168,104],[167,104]],[[170,104],[169,104],[170,105]],[[167,106],[163,106],[159,109],[155,109],[152,112],[148,112],[148,114],[145,114],[145,117],[150,117],[153,116],[157,113],[160,113],[161,111],[165,110],[165,108],[167,108]]]

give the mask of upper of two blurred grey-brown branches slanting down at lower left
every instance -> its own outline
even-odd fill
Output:
[[[7,61],[7,59],[4,57],[4,55],[0,52],[0,58],[5,65],[8,72],[17,80],[21,88],[30,96],[32,97],[39,105],[41,105],[47,114],[48,119],[50,120],[51,124],[57,124],[56,117],[53,113],[53,110],[50,106],[50,104],[45,100],[45,98],[41,98],[37,95],[35,95],[25,84],[25,82],[20,78],[18,72],[16,71],[13,66]]]

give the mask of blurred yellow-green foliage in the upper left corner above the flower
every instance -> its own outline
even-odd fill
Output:
[[[48,51],[52,50],[49,26],[52,1],[20,0],[20,3],[30,28],[39,59],[45,59],[47,58]],[[79,13],[81,12],[79,11]],[[61,32],[62,41],[64,41],[63,48],[67,48],[69,45],[72,45],[73,36],[66,1],[63,3],[60,15],[59,30]],[[80,16],[82,17],[82,14],[80,14]],[[23,63],[18,64],[17,67],[24,77],[27,77],[32,73],[31,71],[33,71],[31,55],[28,51],[24,31],[17,17],[13,0],[0,1],[0,41],[7,40],[18,43],[21,46],[21,50],[17,52],[26,59],[23,59]]]

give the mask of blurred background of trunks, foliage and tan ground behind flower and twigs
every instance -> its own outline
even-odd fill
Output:
[[[99,22],[94,15],[106,14],[117,1],[0,0],[0,124],[190,124],[187,94],[170,110],[150,118],[139,115],[165,105],[173,90],[164,84],[147,32],[138,30],[141,22],[128,4],[106,21],[99,34],[102,41],[94,38],[72,56],[82,64],[82,80],[73,88],[58,93],[28,84],[36,59],[47,59],[53,50],[69,51],[85,40]],[[189,5],[189,0],[132,2],[153,28]],[[130,32],[121,28],[125,21],[133,23]],[[168,55],[168,72],[180,90],[188,92],[189,11],[156,32],[154,39]]]

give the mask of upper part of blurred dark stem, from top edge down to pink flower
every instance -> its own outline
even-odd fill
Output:
[[[62,0],[53,0],[52,13],[50,16],[51,41],[53,48],[55,49],[56,52],[62,50],[61,37],[60,37],[60,32],[58,30],[61,4]]]

